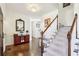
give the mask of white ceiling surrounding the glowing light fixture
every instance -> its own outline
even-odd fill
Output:
[[[32,12],[28,10],[27,8],[28,4],[31,4],[31,3],[7,3],[6,7],[7,7],[7,10],[23,13],[33,17],[36,17],[36,16],[40,17],[46,13],[56,10],[58,7],[57,3],[36,3],[39,7],[39,11]]]

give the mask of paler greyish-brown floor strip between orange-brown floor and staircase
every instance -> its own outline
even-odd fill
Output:
[[[41,48],[38,41],[39,39],[32,37],[32,45],[30,51],[32,56],[41,56]]]

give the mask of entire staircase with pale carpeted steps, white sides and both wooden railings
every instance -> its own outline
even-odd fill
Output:
[[[58,22],[58,15],[53,19],[41,32],[41,56],[79,55],[79,44],[76,42],[76,39],[79,39],[77,18],[75,14],[71,27],[61,26],[62,24]]]

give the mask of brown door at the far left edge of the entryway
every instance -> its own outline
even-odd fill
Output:
[[[3,14],[0,8],[0,56],[3,55]]]

